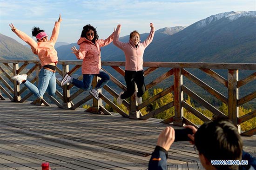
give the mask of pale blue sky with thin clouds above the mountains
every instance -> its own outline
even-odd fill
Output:
[[[0,0],[0,33],[26,44],[8,24],[29,36],[33,26],[50,35],[61,13],[58,41],[74,43],[86,24],[97,27],[100,39],[105,39],[117,24],[122,37],[133,30],[148,33],[150,22],[158,30],[189,26],[217,13],[255,10],[256,0]]]

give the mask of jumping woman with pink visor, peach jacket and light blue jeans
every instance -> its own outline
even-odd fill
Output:
[[[41,30],[39,27],[34,27],[32,29],[32,36],[36,37],[37,42],[26,33],[15,28],[13,24],[9,24],[13,33],[18,35],[20,39],[25,41],[31,47],[32,52],[40,59],[40,64],[42,66],[39,72],[37,87],[27,81],[27,74],[18,74],[14,76],[13,79],[18,81],[19,84],[24,84],[38,98],[42,97],[46,91],[51,96],[54,96],[56,92],[55,67],[58,63],[58,56],[54,45],[59,36],[61,21],[62,19],[60,14],[59,20],[55,22],[50,40],[48,40],[48,35],[44,30]]]

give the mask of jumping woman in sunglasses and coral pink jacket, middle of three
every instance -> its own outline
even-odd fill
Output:
[[[115,29],[114,29],[115,31]],[[78,40],[77,44],[80,49],[77,50],[76,47],[72,47],[72,53],[75,54],[77,59],[82,59],[82,74],[83,81],[72,78],[66,74],[61,85],[66,85],[67,83],[72,83],[76,87],[81,88],[99,100],[98,89],[101,89],[106,85],[110,79],[109,75],[101,69],[101,47],[107,46],[113,41],[114,33],[112,33],[107,39],[99,39],[96,29],[90,24],[83,27],[81,33],[81,38]],[[97,83],[94,89],[91,88],[92,80],[94,76],[98,76],[101,80]]]

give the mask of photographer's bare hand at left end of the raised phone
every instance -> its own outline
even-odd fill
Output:
[[[172,127],[166,127],[159,135],[157,146],[161,146],[165,150],[169,150],[175,139],[175,131]]]

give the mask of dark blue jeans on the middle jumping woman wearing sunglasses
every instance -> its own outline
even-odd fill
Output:
[[[101,89],[110,79],[109,75],[101,69],[99,74],[83,74],[83,81],[73,78],[72,84],[84,91],[91,90],[94,76],[101,78],[95,89]]]

